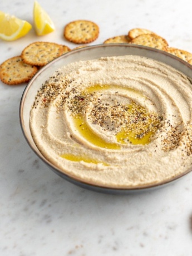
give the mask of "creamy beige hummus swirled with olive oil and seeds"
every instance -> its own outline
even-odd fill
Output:
[[[32,136],[46,159],[77,180],[160,184],[192,166],[191,88],[183,73],[146,57],[70,63],[37,92]]]

